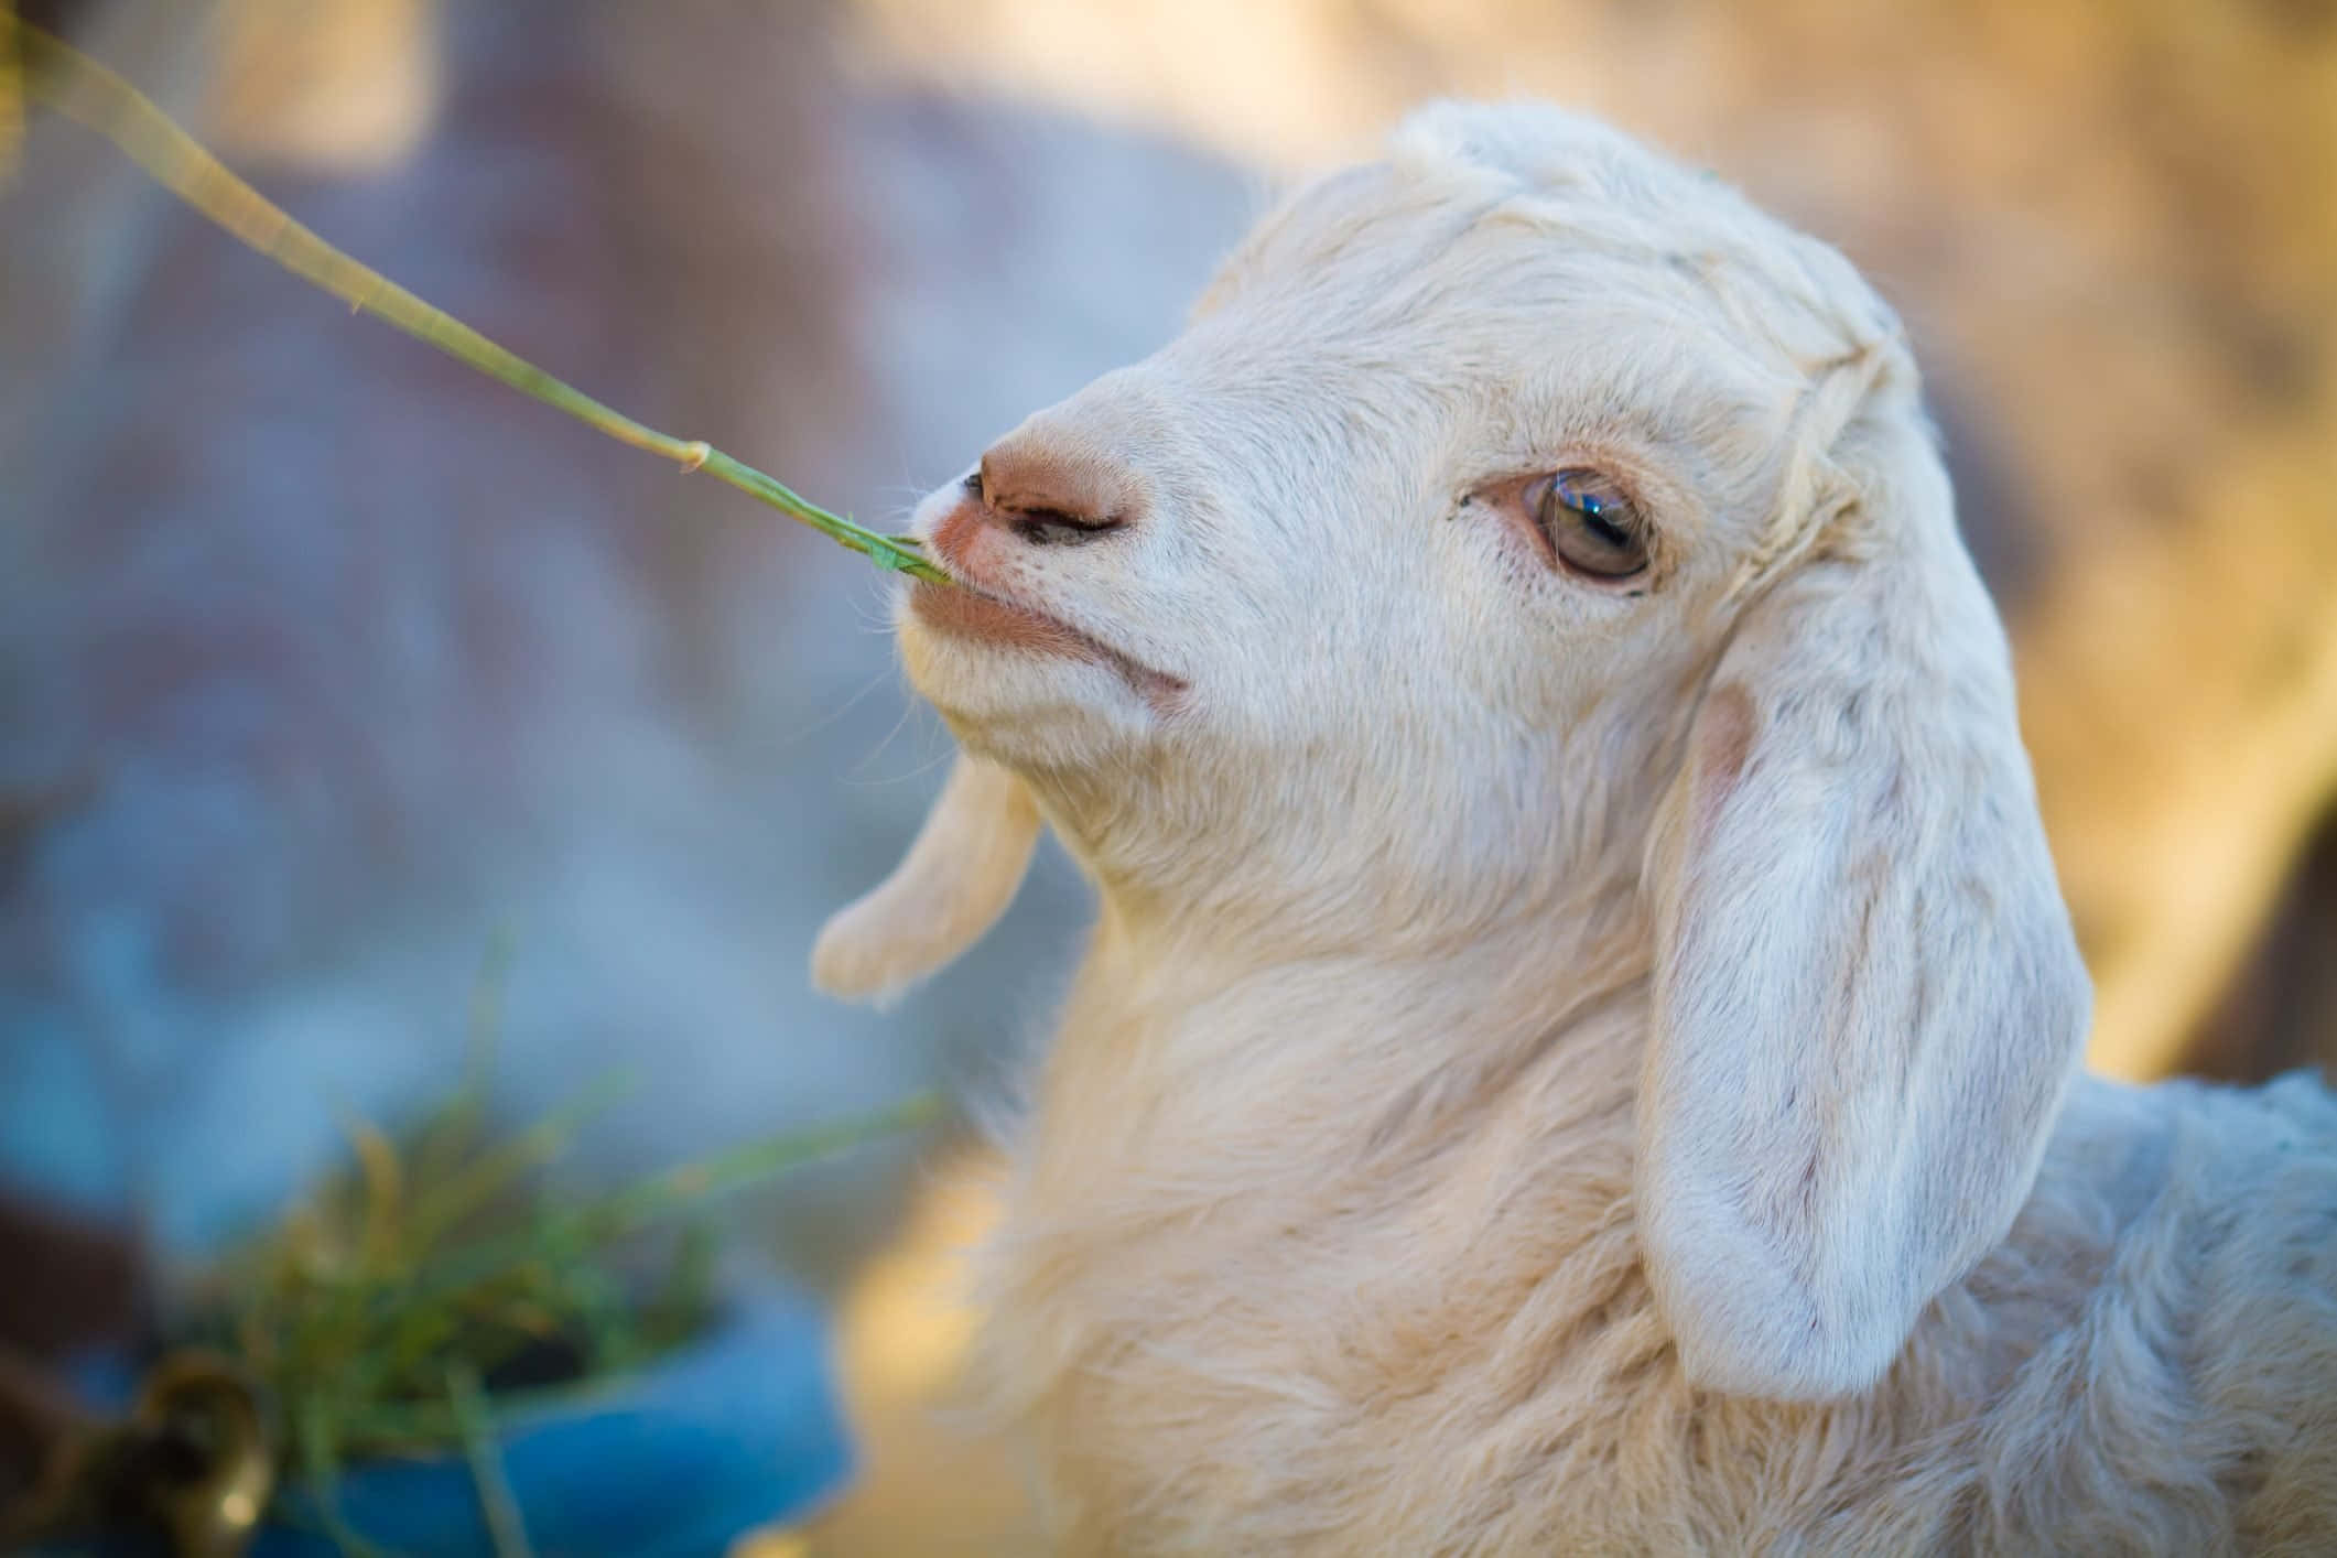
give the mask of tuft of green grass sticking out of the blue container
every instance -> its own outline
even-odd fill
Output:
[[[481,972],[463,1081],[411,1128],[344,1124],[351,1161],[194,1294],[185,1341],[215,1348],[276,1409],[278,1486],[344,1551],[379,1551],[339,1514],[360,1458],[460,1451],[498,1546],[526,1551],[493,1455],[493,1413],[622,1376],[715,1317],[708,1203],[939,1114],[925,1093],[566,1198],[545,1182],[598,1086],[514,1133],[488,1119],[502,953]],[[297,1514],[297,1507],[280,1507]]]

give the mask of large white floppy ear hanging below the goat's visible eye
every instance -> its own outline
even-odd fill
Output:
[[[1828,462],[1844,544],[1739,619],[1650,848],[1641,1238],[1715,1390],[1874,1383],[2012,1226],[2087,1028],[2003,631],[1898,395]]]

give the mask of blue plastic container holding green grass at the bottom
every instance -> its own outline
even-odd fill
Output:
[[[495,1430],[535,1558],[720,1558],[816,1514],[853,1469],[825,1317],[792,1294],[757,1294],[640,1373],[502,1409]],[[297,1495],[294,1514],[252,1558],[334,1558]],[[460,1453],[348,1467],[341,1516],[409,1558],[495,1558]]]

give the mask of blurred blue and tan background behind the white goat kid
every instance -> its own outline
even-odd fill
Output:
[[[2337,1056],[2332,0],[19,9],[355,257],[879,526],[1171,336],[1278,187],[1419,98],[1608,114],[1909,320],[2094,1063]],[[337,1110],[444,1088],[498,934],[500,1103],[633,1077],[596,1173],[996,1086],[1075,946],[1061,857],[893,1014],[804,976],[951,752],[881,593],[35,117],[0,194],[0,1196],[215,1245]],[[867,1458],[797,1546],[1019,1551],[1010,1469],[935,1411],[984,1217],[949,1131],[750,1208],[837,1303]]]

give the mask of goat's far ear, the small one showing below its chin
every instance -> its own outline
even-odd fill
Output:
[[[1014,902],[1038,825],[1038,804],[1017,775],[958,754],[909,855],[820,927],[811,983],[886,1002],[951,962]]]

